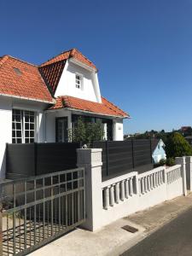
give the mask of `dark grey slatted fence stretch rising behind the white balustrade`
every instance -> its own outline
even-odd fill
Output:
[[[128,140],[95,142],[93,148],[102,148],[102,179],[125,172],[144,172],[153,166],[152,146],[158,140]]]

